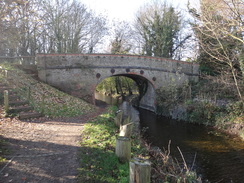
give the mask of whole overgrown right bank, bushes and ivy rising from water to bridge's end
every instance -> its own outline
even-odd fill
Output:
[[[174,83],[161,87],[156,91],[157,113],[213,126],[244,139],[243,100],[238,98],[231,87],[225,88],[213,78],[200,78],[199,82],[185,83],[182,87]]]

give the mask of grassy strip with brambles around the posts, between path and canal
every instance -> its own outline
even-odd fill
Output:
[[[79,182],[128,183],[129,164],[121,164],[115,155],[118,128],[115,107],[88,122],[82,131]],[[180,165],[169,154],[147,145],[139,135],[132,137],[132,157],[149,159],[152,182],[201,182],[195,172]]]

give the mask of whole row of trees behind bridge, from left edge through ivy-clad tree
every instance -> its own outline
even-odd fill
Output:
[[[3,56],[93,53],[108,33],[107,20],[77,0],[2,0],[0,5]],[[134,25],[117,22],[111,27],[113,54],[175,58],[189,38],[181,34],[180,13],[159,1],[141,8]]]

